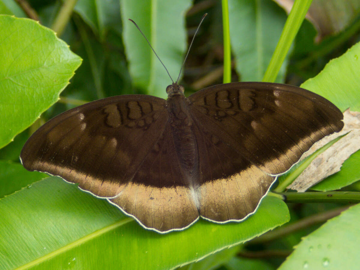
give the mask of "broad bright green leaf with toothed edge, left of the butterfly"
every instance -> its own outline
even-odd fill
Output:
[[[59,99],[81,59],[31,19],[0,15],[0,148]]]

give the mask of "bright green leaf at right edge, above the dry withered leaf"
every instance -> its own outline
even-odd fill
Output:
[[[341,111],[350,107],[360,111],[360,42],[346,53],[330,60],[324,69],[305,81],[301,87],[315,92],[334,103]]]

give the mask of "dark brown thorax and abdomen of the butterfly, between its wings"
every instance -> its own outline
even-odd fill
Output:
[[[171,135],[176,148],[177,158],[189,177],[194,171],[197,156],[196,141],[193,131],[193,120],[189,112],[189,100],[184,94],[169,95],[167,109]]]

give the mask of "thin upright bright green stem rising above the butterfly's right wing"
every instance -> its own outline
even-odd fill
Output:
[[[228,0],[222,0],[222,32],[224,39],[224,84],[231,82],[231,53],[230,53],[230,30],[229,30],[229,6]]]

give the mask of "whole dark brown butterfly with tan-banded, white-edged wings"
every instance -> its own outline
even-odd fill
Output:
[[[28,139],[21,162],[166,233],[199,217],[246,219],[278,175],[343,127],[335,105],[291,85],[234,82],[185,97],[173,83],[166,92],[167,100],[121,95],[66,111]]]

